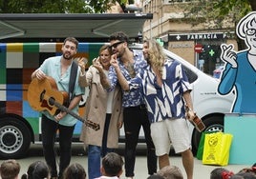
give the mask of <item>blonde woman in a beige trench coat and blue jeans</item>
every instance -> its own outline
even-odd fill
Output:
[[[107,92],[100,83],[102,75],[107,75],[110,67],[111,49],[104,45],[99,56],[87,72],[83,59],[78,61],[82,72],[79,77],[81,87],[89,87],[85,118],[99,124],[100,129],[83,127],[80,139],[88,146],[89,179],[99,177],[100,157],[118,147],[118,134],[122,126],[121,89],[117,87]]]

